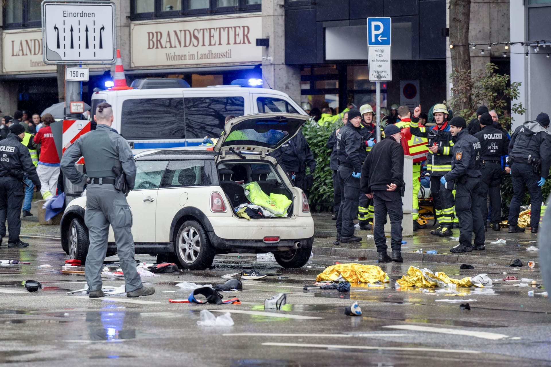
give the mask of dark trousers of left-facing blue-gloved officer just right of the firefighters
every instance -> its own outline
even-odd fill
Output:
[[[471,247],[484,245],[484,220],[480,211],[480,178],[461,178],[455,187],[455,211],[459,217],[459,243]]]

